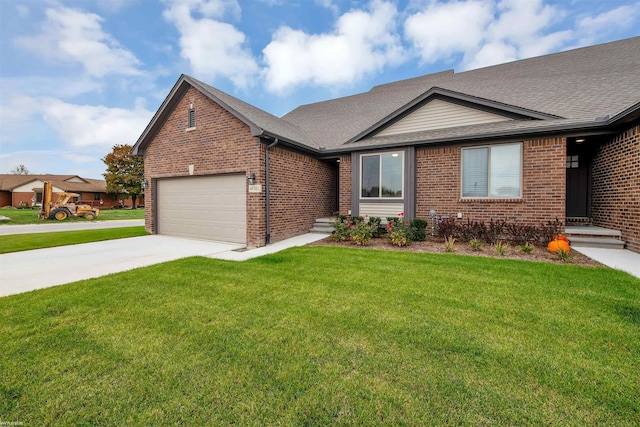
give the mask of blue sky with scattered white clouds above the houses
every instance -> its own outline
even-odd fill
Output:
[[[638,35],[624,0],[0,0],[0,173],[102,179],[181,74],[282,116]]]

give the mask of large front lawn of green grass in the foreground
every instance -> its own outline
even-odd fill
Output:
[[[640,424],[640,281],[303,247],[0,299],[25,425]]]

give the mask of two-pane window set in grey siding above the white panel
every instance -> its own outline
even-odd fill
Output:
[[[361,157],[360,187],[363,198],[402,198],[404,153]]]

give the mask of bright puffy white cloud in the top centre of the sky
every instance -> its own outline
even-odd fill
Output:
[[[267,90],[346,85],[403,60],[396,35],[396,7],[375,0],[369,11],[342,15],[331,33],[307,34],[281,27],[263,50]]]

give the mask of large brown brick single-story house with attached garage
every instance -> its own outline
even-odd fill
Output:
[[[153,233],[262,246],[344,215],[590,221],[640,251],[640,37],[276,117],[182,75],[133,147]]]

